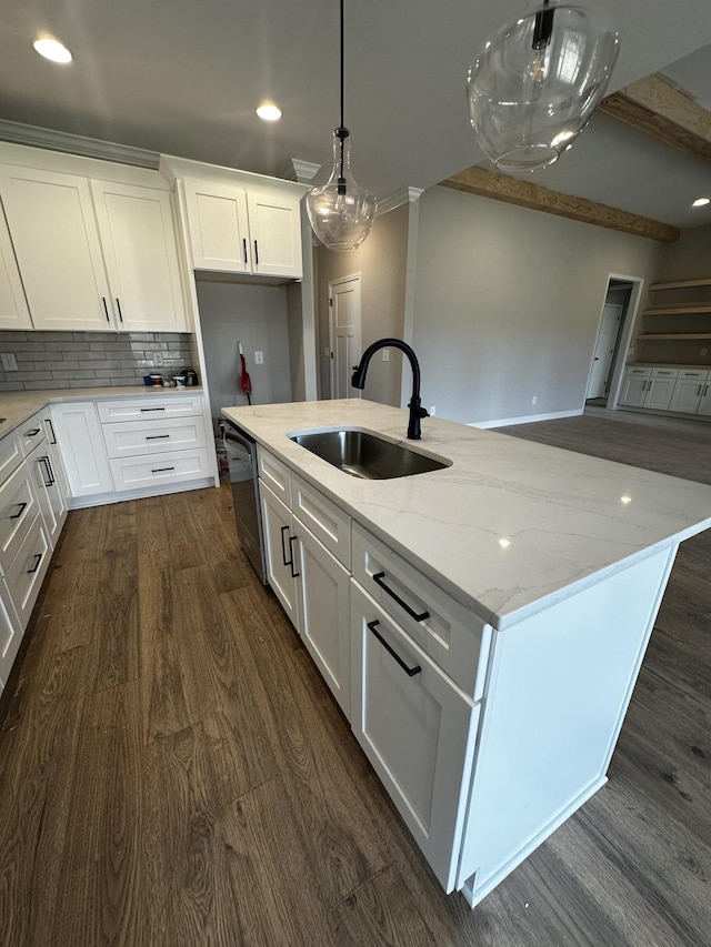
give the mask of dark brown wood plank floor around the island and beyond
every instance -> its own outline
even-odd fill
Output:
[[[507,429],[711,483],[711,425]],[[0,944],[711,944],[711,532],[610,782],[473,911],[423,863],[229,491],[70,514],[0,703]]]

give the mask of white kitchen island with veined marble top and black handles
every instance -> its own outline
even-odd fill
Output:
[[[289,435],[403,441],[405,412],[224,413],[267,463],[266,521],[270,464],[291,478],[279,530],[293,624],[440,883],[478,903],[604,784],[677,546],[711,525],[711,487],[439,419],[407,446],[445,467],[362,481]],[[328,563],[318,582],[314,563]],[[314,590],[343,575],[348,595],[341,582],[321,608]]]

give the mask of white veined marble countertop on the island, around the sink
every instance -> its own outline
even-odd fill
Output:
[[[504,628],[711,526],[711,486],[358,399],[223,409],[451,595]],[[350,476],[289,440],[352,426],[452,461]]]

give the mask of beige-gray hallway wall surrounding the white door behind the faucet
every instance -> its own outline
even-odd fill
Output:
[[[360,273],[363,349],[378,339],[388,335],[401,339],[403,335],[408,218],[408,204],[377,218],[368,240],[352,253],[333,253],[323,246],[318,249],[317,351],[321,397],[330,397],[331,394],[330,364],[323,354],[329,344],[329,282]],[[373,359],[363,397],[399,405],[401,365],[401,355],[395,350],[391,351],[389,362]]]

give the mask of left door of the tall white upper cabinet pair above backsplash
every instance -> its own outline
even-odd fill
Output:
[[[0,165],[0,192],[34,328],[113,331],[87,179]]]

